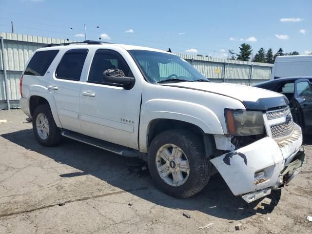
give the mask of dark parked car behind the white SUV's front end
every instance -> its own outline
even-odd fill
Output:
[[[295,123],[302,132],[312,134],[312,77],[278,78],[255,85],[285,95]]]

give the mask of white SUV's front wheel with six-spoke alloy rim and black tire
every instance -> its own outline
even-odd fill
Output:
[[[157,186],[168,195],[186,198],[208,183],[211,162],[193,133],[172,129],[157,135],[148,152],[148,166]]]

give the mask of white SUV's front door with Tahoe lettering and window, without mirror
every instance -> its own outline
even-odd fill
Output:
[[[141,83],[136,82],[130,90],[104,83],[103,72],[112,68],[133,77],[119,53],[98,49],[87,81],[81,84],[80,125],[85,135],[138,149]]]

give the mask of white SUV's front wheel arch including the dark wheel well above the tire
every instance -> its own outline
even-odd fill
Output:
[[[149,143],[156,134],[176,126],[190,130],[201,139],[204,136],[206,140],[213,139],[214,143],[213,134],[224,134],[218,117],[205,106],[187,101],[153,99],[141,108],[138,136],[140,152],[148,152]]]

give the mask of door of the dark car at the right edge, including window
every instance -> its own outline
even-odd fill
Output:
[[[294,82],[294,98],[297,101],[302,131],[312,133],[312,86],[309,79],[298,79]]]

